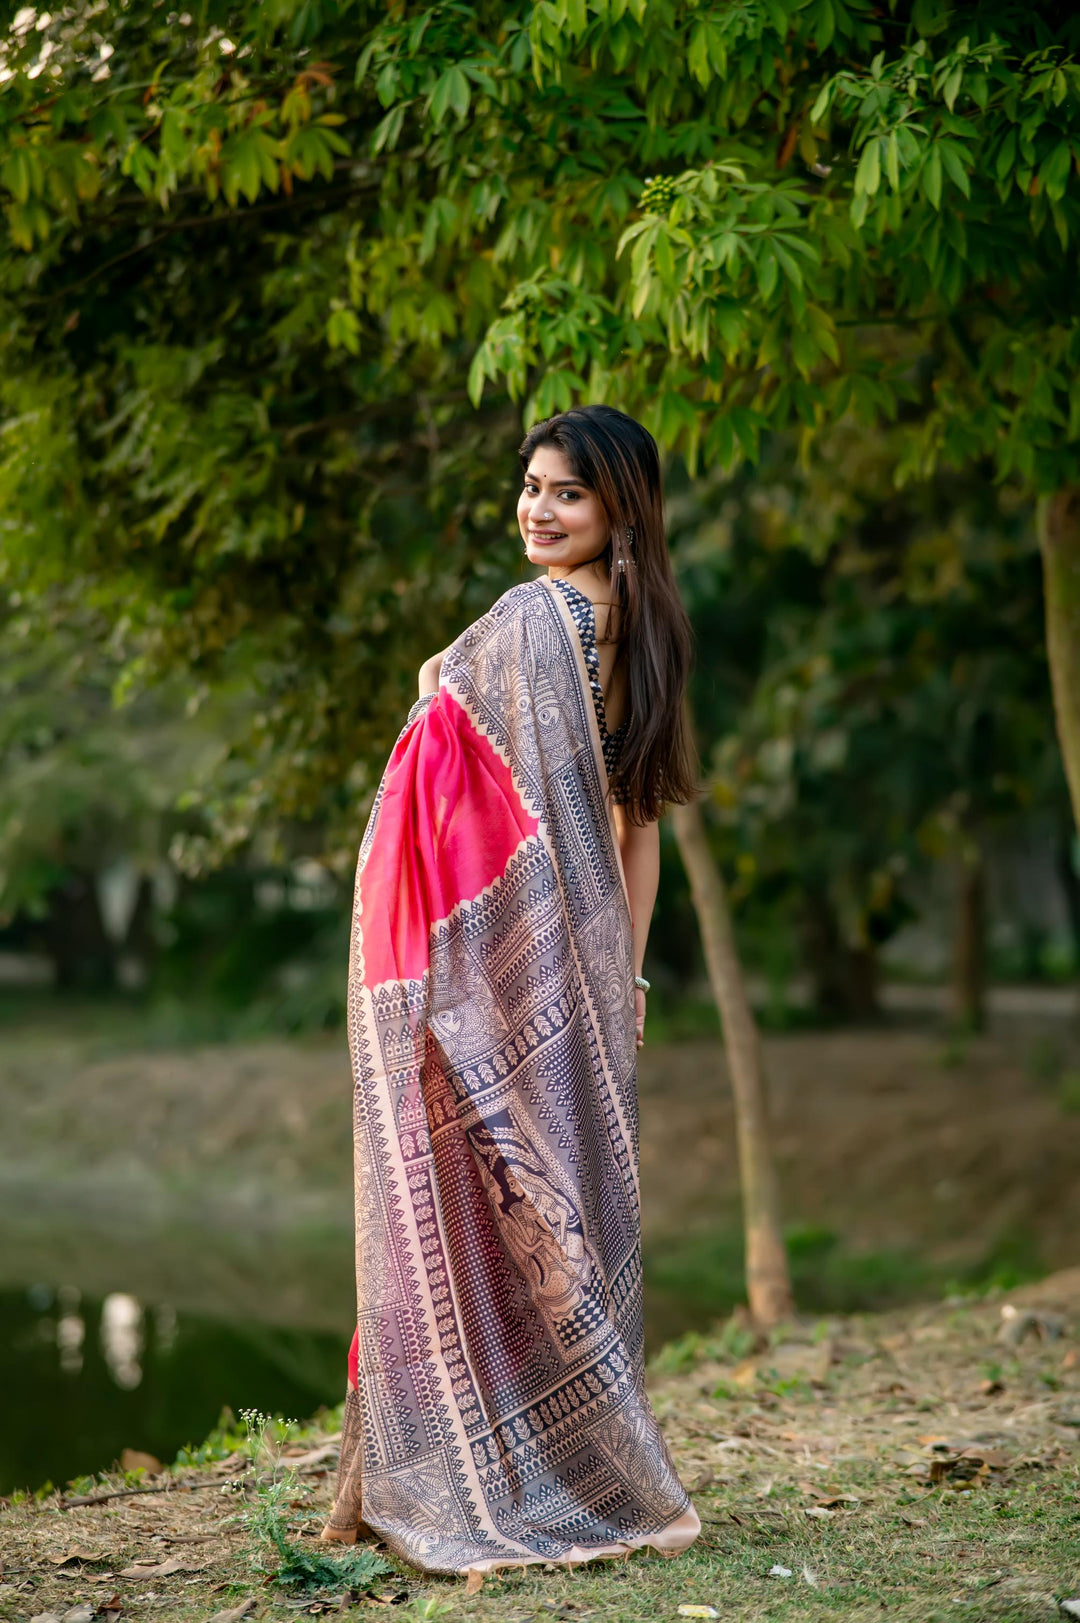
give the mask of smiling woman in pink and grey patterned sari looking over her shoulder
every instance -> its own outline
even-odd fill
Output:
[[[685,1548],[645,1396],[635,1044],[656,818],[693,792],[659,458],[521,446],[546,576],[421,670],[357,865],[357,1332],[326,1539],[432,1573]]]

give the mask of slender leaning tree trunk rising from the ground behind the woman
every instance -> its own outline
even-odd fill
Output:
[[[702,808],[697,802],[674,807],[671,821],[690,881],[708,979],[724,1027],[742,1183],[747,1302],[754,1323],[760,1329],[770,1329],[793,1316],[794,1297],[780,1225],[780,1186],[773,1165],[762,1044],[742,982],[728,893],[708,849]]]

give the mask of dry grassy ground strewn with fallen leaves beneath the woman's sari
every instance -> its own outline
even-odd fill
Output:
[[[999,1323],[997,1302],[802,1321],[778,1334],[788,1360],[806,1355],[817,1375],[784,1378],[770,1373],[780,1347],[755,1354],[737,1319],[697,1342],[684,1337],[653,1362],[651,1391],[702,1518],[690,1550],[676,1560],[638,1552],[573,1573],[503,1571],[466,1595],[460,1579],[393,1560],[378,1573],[370,1552],[357,1548],[357,1582],[343,1604],[335,1600],[343,1605],[336,1615],[370,1617],[370,1592],[378,1605],[400,1602],[393,1615],[409,1623],[674,1623],[684,1604],[711,1605],[741,1623],[1051,1623],[1064,1617],[1059,1600],[1080,1594],[1080,1367],[1069,1357],[1069,1337],[1009,1350],[997,1341]],[[305,1443],[320,1435],[304,1428]],[[931,1464],[942,1456],[932,1440],[942,1436],[992,1446],[997,1464],[984,1467],[976,1485],[948,1472],[934,1482]],[[208,1440],[205,1457],[232,1441],[227,1423]],[[200,1469],[244,1467],[193,1470],[185,1462],[184,1480]],[[91,1545],[107,1547],[110,1565],[145,1558],[156,1527],[172,1535],[169,1550],[197,1548],[206,1565],[195,1576],[154,1579],[153,1617],[205,1623],[250,1595],[257,1623],[284,1623],[297,1615],[296,1602],[291,1607],[289,1592],[279,1595],[268,1576],[296,1578],[292,1592],[309,1595],[336,1594],[348,1582],[341,1553],[304,1539],[310,1508],[320,1511],[328,1492],[330,1479],[309,1482],[299,1495],[283,1488],[270,1511],[250,1495],[245,1511],[221,1492],[75,1511],[63,1511],[55,1495],[26,1498],[0,1514],[0,1617],[63,1615],[83,1599],[101,1599],[107,1591],[91,1579],[104,1561],[60,1579],[49,1556]],[[830,1514],[806,1514],[822,1496],[841,1493],[851,1498]],[[273,1537],[261,1526],[266,1514]],[[206,1542],[184,1543],[200,1527],[213,1529]],[[296,1574],[286,1571],[286,1555],[299,1563]],[[115,1581],[135,1615],[146,1587]]]

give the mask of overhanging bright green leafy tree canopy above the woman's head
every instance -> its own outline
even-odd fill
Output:
[[[1078,39],[1010,0],[23,8],[6,579],[83,576],[132,680],[247,639],[240,837],[370,787],[513,578],[521,414],[609,399],[692,469],[900,422],[898,477],[1043,498],[1080,808]]]

